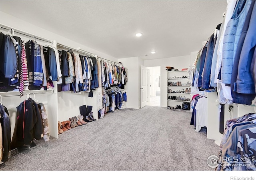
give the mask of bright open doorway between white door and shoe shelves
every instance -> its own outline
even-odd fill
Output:
[[[149,70],[149,78],[148,78],[148,102],[147,106],[160,106],[161,99],[161,88],[160,88],[160,66],[155,67],[147,67]]]

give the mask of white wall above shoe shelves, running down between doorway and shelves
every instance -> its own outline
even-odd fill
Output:
[[[182,70],[182,68],[188,68],[190,66],[190,56],[145,60],[144,66],[161,66],[161,107],[167,107],[167,70],[165,67],[172,66],[178,70]]]

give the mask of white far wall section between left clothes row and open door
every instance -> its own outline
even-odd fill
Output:
[[[128,68],[127,78],[128,82],[125,85],[127,94],[127,108],[140,108],[140,64],[143,61],[138,57],[122,58],[118,60]]]

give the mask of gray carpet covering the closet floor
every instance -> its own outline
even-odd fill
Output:
[[[0,170],[213,170],[206,160],[218,146],[190,118],[188,111],[154,106],[118,110],[58,139],[38,140]]]

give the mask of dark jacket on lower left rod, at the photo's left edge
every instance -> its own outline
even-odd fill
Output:
[[[2,126],[2,162],[8,161],[8,154],[11,149],[11,123],[9,112],[6,107],[0,104],[0,124]]]

